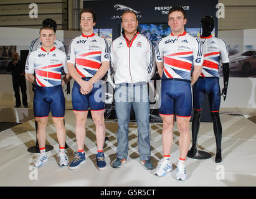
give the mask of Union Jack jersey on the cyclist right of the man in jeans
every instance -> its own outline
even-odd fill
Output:
[[[191,81],[191,67],[202,65],[202,53],[199,40],[186,32],[160,39],[156,44],[156,62],[164,62],[162,80],[177,78]]]

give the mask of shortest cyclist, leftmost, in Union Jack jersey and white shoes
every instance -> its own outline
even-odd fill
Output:
[[[31,52],[26,63],[26,79],[36,85],[33,107],[40,150],[40,154],[34,162],[36,167],[41,167],[48,160],[45,153],[45,137],[49,111],[52,113],[52,119],[57,129],[60,147],[59,165],[67,166],[69,164],[65,154],[65,98],[62,85],[70,80],[70,75],[67,71],[67,56],[54,47],[55,38],[54,29],[43,26],[40,29],[42,47]],[[66,73],[64,78],[61,76],[63,70]]]

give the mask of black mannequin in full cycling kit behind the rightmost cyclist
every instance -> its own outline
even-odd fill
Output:
[[[195,158],[197,154],[197,134],[200,127],[200,117],[202,111],[202,101],[206,93],[209,97],[211,118],[214,126],[214,136],[216,137],[216,159],[221,162],[221,138],[222,126],[219,117],[220,108],[220,86],[219,86],[219,60],[222,59],[224,88],[221,95],[224,100],[227,96],[227,85],[229,82],[229,53],[224,40],[212,37],[214,19],[211,16],[204,16],[201,19],[202,35],[199,38],[204,48],[204,63],[202,73],[196,81],[193,89],[194,117],[192,120],[192,147],[187,153],[188,157]],[[202,158],[203,159],[203,158]]]

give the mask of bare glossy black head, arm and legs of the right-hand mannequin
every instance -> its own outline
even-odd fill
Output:
[[[202,37],[209,37],[214,29],[214,19],[210,16],[202,17]],[[222,63],[223,76],[224,76],[224,88],[221,95],[224,96],[224,100],[227,96],[227,85],[229,83],[229,63]],[[192,119],[192,147],[187,153],[188,157],[195,157],[197,154],[197,135],[200,127],[201,111],[194,110],[194,116]],[[221,139],[222,139],[222,126],[220,123],[219,112],[211,112],[211,118],[214,128],[214,136],[216,139],[216,158],[215,162],[221,162]]]

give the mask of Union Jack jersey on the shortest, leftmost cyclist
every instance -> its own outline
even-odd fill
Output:
[[[43,87],[61,85],[62,70],[67,71],[67,56],[55,47],[46,52],[43,47],[34,50],[27,57],[25,72],[36,73],[36,83]]]

